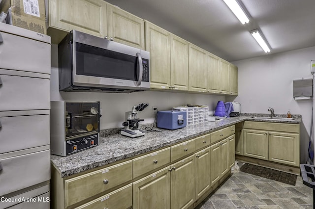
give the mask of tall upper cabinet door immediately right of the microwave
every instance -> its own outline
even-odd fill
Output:
[[[145,22],[145,48],[150,52],[151,88],[169,89],[171,83],[170,33]]]

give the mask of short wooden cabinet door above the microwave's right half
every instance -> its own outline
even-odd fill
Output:
[[[144,20],[107,5],[107,34],[114,41],[144,50]]]

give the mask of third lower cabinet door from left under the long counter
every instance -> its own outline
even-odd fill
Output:
[[[211,185],[210,181],[210,147],[195,154],[195,200],[198,200]]]

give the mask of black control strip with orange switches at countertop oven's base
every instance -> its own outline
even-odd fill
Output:
[[[66,156],[97,146],[99,143],[98,133],[89,136],[82,136],[65,141]]]

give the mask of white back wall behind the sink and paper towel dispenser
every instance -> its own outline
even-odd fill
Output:
[[[307,160],[311,128],[312,100],[297,101],[292,96],[293,79],[313,78],[311,60],[315,47],[270,54],[235,61],[238,66],[239,95],[234,101],[242,104],[242,112],[301,114],[301,162]]]

